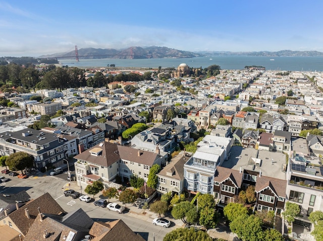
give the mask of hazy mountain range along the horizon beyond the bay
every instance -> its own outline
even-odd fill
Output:
[[[78,50],[80,59],[145,59],[145,58],[193,58],[200,56],[319,56],[323,57],[323,52],[318,51],[292,51],[281,50],[277,52],[259,51],[259,52],[230,52],[230,51],[199,51],[189,52],[167,47],[130,47],[127,49],[101,49],[101,48],[81,48]],[[55,53],[42,55],[39,58],[75,58],[75,51],[66,53]]]

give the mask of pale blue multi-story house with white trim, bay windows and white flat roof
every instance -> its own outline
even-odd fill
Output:
[[[213,178],[217,166],[228,158],[233,139],[206,135],[198,149],[184,165],[186,189],[196,194],[213,193]]]

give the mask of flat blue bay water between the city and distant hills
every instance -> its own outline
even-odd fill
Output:
[[[206,68],[217,64],[221,69],[244,69],[245,66],[263,66],[266,70],[282,71],[323,71],[323,57],[265,57],[265,56],[203,56],[195,58],[150,58],[150,59],[59,59],[62,65],[69,67],[143,67],[143,68],[177,68],[181,63],[189,67]]]

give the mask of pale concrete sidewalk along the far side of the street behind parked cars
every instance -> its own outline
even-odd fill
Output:
[[[85,187],[82,187],[82,190],[80,189],[79,186],[77,186],[77,183],[76,181],[74,182],[71,182],[71,186],[69,186],[69,182],[67,181],[67,183],[64,185],[63,189],[73,189],[75,190],[76,192],[79,192],[81,193],[82,191],[82,194],[85,195],[86,193],[84,192],[84,188]],[[98,200],[98,199],[106,199],[105,197],[103,197],[102,195],[100,194],[97,194],[95,196],[95,200]],[[117,198],[110,198],[110,202],[116,202],[122,206],[125,206],[122,202],[119,202],[119,199]],[[154,218],[157,218],[158,217],[158,214],[157,213],[154,213],[154,212],[151,212],[149,211],[148,209],[142,209],[142,208],[139,208],[139,207],[136,207],[134,206],[133,204],[127,204],[127,208],[126,208],[126,213],[129,215],[129,216],[132,216],[134,218],[137,218],[137,219],[140,219],[140,220],[144,220],[144,221],[147,221],[147,222],[152,222],[152,220]],[[182,227],[184,225],[183,221],[181,221],[180,219],[179,220],[176,220],[172,217],[169,217],[169,216],[166,216],[167,219],[169,219],[173,225],[175,224],[175,228],[178,228],[178,227]],[[171,224],[171,226],[173,226]]]

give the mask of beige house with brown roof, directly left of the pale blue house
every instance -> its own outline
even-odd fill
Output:
[[[185,187],[184,164],[190,157],[191,155],[189,153],[182,151],[172,158],[171,162],[167,164],[166,167],[161,169],[157,174],[157,191],[159,193],[182,193]]]

